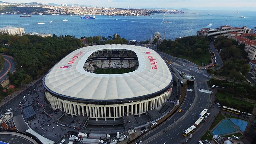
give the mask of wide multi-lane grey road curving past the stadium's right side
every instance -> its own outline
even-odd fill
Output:
[[[177,63],[179,66],[173,66],[177,68],[178,70],[188,73],[191,76],[195,76],[195,83],[196,83],[196,90],[198,91],[199,89],[204,89],[204,90],[209,90],[209,87],[206,83],[206,80],[208,79],[208,76],[206,75],[205,70],[200,70],[198,71],[198,66],[188,62],[188,61],[183,61],[181,59],[176,59],[175,57],[172,57],[170,55],[167,55],[165,53],[159,52],[160,55],[164,59],[174,61]],[[193,89],[193,84],[194,81],[189,81],[188,82],[188,88]],[[188,92],[188,91],[187,91]],[[184,100],[182,106],[180,107],[183,109],[181,113],[176,113],[172,116],[171,119],[169,119],[165,124],[158,126],[156,130],[148,134],[147,136],[143,137],[141,141],[147,140],[150,136],[155,135],[157,132],[160,132],[164,128],[168,127],[169,125],[176,123],[171,127],[167,132],[159,135],[156,139],[153,139],[149,142],[148,144],[179,144],[182,142],[185,142],[186,138],[182,135],[183,131],[188,129],[190,126],[192,126],[196,120],[199,118],[199,114],[203,111],[204,108],[209,107],[210,101],[210,95],[204,92],[199,92],[197,98],[195,99],[194,97],[194,92],[188,92],[186,99]],[[194,101],[195,100],[195,101]],[[192,102],[195,102],[194,107],[190,108]],[[190,108],[190,111],[188,114],[184,117],[182,117],[186,111],[188,111],[188,108]],[[196,131],[192,135],[192,139],[188,140],[188,144],[195,144],[198,142],[198,140],[203,136],[203,134],[208,130],[208,128],[211,126],[211,122],[213,121],[215,115],[219,112],[219,108],[207,108],[208,112],[210,112],[210,116],[206,119],[205,123],[202,123],[199,125],[196,129]],[[180,121],[179,119],[182,117],[182,120]],[[177,121],[178,120],[178,121]],[[137,140],[138,141],[138,140]]]

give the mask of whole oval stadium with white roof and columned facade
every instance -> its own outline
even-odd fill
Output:
[[[112,44],[71,52],[45,75],[43,84],[52,108],[107,121],[161,108],[173,79],[154,50]]]

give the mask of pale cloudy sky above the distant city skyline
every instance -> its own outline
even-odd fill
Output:
[[[0,0],[10,3],[79,4],[116,8],[188,8],[204,10],[255,10],[256,0]]]

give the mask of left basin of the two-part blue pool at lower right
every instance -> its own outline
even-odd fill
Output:
[[[216,135],[221,135],[224,133],[235,131],[237,131],[237,129],[234,128],[233,125],[227,119],[225,119],[212,131],[212,133]]]

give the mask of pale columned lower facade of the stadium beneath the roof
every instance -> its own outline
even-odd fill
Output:
[[[147,100],[133,101],[124,104],[96,105],[77,103],[68,100],[61,100],[45,92],[47,100],[50,101],[53,108],[59,108],[70,114],[72,117],[77,115],[89,116],[89,118],[116,120],[116,118],[128,115],[141,115],[148,110],[161,107],[167,99],[170,98],[172,89],[163,94]]]

